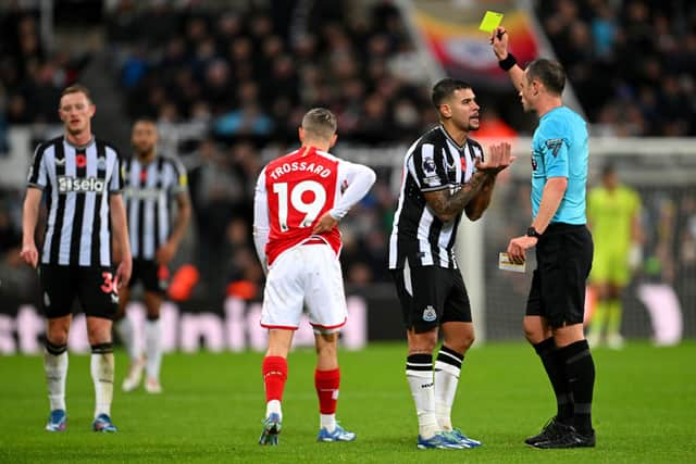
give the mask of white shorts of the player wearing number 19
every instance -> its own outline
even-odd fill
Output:
[[[301,244],[275,259],[265,280],[261,326],[296,330],[302,304],[314,331],[333,333],[346,324],[340,262],[327,244]]]

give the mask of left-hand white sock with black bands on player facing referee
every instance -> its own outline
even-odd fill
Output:
[[[433,356],[411,354],[406,362],[406,378],[411,388],[419,434],[422,438],[432,438],[439,431],[435,416],[435,386],[433,384]]]

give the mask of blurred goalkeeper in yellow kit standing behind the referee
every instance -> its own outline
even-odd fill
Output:
[[[587,340],[609,348],[623,346],[621,291],[629,284],[631,268],[639,261],[641,199],[635,190],[619,183],[612,165],[601,173],[601,185],[587,197],[587,222],[595,240],[589,281],[597,296]],[[602,336],[606,338],[602,339]]]

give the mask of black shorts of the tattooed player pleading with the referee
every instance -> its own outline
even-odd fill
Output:
[[[471,305],[459,269],[419,266],[393,269],[403,324],[421,334],[447,322],[471,322]]]

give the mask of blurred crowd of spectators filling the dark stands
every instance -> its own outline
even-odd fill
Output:
[[[408,78],[395,64],[414,43],[391,1],[372,2],[361,14],[348,0],[310,2],[311,11],[293,15],[301,2],[235,2],[224,11],[203,3],[111,1],[101,25],[119,70],[113,84],[125,101],[122,117],[151,117],[163,131],[177,123],[201,128],[199,138],[179,147],[195,213],[195,234],[179,263],[200,269],[198,291],[250,294],[263,279],[251,240],[261,148],[291,149],[302,114],[315,105],[337,114],[341,142],[359,146],[408,143],[436,122],[435,112],[430,85]],[[696,15],[680,15],[675,3],[535,2],[593,135],[696,136]],[[60,91],[89,65],[88,54],[46,50],[35,13],[0,10],[0,152],[7,151],[9,125],[59,123]],[[529,134],[531,127],[513,129]],[[396,199],[389,170],[378,172],[378,179],[343,226],[348,286],[389,279],[387,237]],[[523,187],[507,195],[510,204],[529,201]],[[0,196],[2,276],[30,274],[15,256],[22,196],[11,189]],[[651,208],[657,209],[646,214],[659,217],[661,205]],[[515,211],[520,217],[508,217],[510,227],[529,222],[527,208]],[[694,202],[670,211],[672,217],[660,221],[687,225],[683,240],[696,250]],[[29,280],[7,281],[22,292]]]

